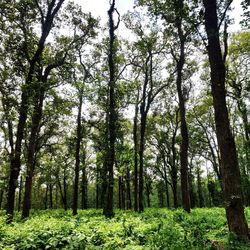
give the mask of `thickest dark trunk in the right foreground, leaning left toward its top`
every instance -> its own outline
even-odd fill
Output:
[[[205,29],[208,36],[208,56],[215,111],[216,135],[221,154],[221,170],[226,215],[229,230],[239,238],[249,238],[240,186],[240,171],[234,138],[230,129],[225,91],[225,63],[223,60],[216,0],[203,0]]]

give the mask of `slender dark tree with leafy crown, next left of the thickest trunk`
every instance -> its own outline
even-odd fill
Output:
[[[176,66],[176,89],[179,99],[180,121],[181,121],[181,186],[182,186],[182,204],[187,212],[190,212],[190,197],[188,191],[188,127],[186,122],[186,107],[188,88],[184,86],[184,70],[187,63],[187,48],[190,44],[191,36],[194,37],[194,20],[197,17],[195,2],[183,0],[175,1],[138,1],[140,5],[148,6],[148,10],[153,16],[164,20],[166,48],[169,47]],[[192,16],[189,10],[193,10]],[[171,42],[168,42],[170,40]]]

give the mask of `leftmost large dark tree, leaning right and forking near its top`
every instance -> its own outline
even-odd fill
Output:
[[[41,34],[40,38],[37,42],[37,47],[33,53],[33,55],[29,55],[27,48],[28,42],[27,32],[30,30],[30,27],[26,27],[25,24],[30,23],[30,14],[34,12],[36,9],[36,13],[39,13],[41,10],[39,6],[35,5],[27,5],[25,1],[20,1],[14,5],[16,8],[16,13],[19,12],[20,19],[17,20],[20,29],[23,32],[23,36],[25,38],[25,45],[24,50],[26,52],[26,60],[28,62],[28,69],[27,74],[25,76],[25,87],[23,87],[22,95],[21,95],[21,104],[19,109],[19,118],[18,118],[18,125],[17,125],[17,132],[16,132],[16,141],[15,141],[15,148],[13,154],[11,156],[10,162],[10,178],[8,184],[8,199],[7,199],[7,222],[11,222],[13,218],[14,212],[14,201],[15,201],[15,190],[17,187],[17,180],[20,172],[21,166],[21,150],[22,150],[22,140],[24,136],[24,129],[26,125],[27,115],[28,115],[28,107],[29,107],[29,97],[30,93],[32,92],[32,83],[34,80],[34,75],[36,75],[36,66],[41,62],[42,54],[44,51],[44,46],[46,39],[53,27],[54,19],[56,18],[58,11],[60,10],[64,0],[59,1],[52,1],[47,3],[47,12],[45,15],[41,15]],[[38,8],[37,8],[38,7]],[[40,13],[41,14],[41,13]],[[18,16],[18,14],[17,14]],[[6,17],[8,20],[8,16]],[[34,20],[34,16],[32,16]],[[31,19],[31,20],[32,20]]]

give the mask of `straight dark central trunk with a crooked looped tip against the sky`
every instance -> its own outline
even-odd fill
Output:
[[[114,216],[113,211],[113,189],[114,189],[114,163],[115,163],[115,141],[116,141],[116,100],[115,100],[115,82],[116,82],[116,36],[115,30],[118,28],[119,19],[117,25],[114,24],[113,14],[117,12],[115,8],[115,0],[111,2],[110,9],[108,11],[109,16],[109,107],[108,107],[108,161],[107,161],[107,191],[106,191],[106,202],[103,209],[103,214],[107,218]]]

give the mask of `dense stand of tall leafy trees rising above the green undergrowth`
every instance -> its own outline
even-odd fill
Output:
[[[249,237],[249,1],[135,1],[108,23],[0,2],[0,209],[226,208]],[[121,35],[123,34],[123,35]],[[124,35],[125,34],[125,35]]]

